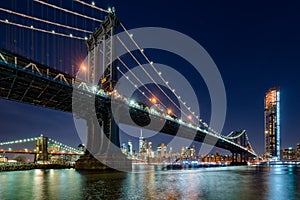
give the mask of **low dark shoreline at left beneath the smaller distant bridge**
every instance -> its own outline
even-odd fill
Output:
[[[70,164],[0,163],[0,172],[31,170],[31,169],[69,169],[69,168],[74,168],[74,166]]]

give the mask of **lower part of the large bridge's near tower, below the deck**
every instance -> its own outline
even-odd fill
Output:
[[[77,170],[130,171],[131,161],[120,150],[119,127],[111,112],[87,120],[87,151],[76,161]]]

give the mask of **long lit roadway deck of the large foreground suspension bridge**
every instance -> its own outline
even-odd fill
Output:
[[[110,97],[107,94],[95,93],[89,87],[80,87],[82,83],[76,82],[74,77],[51,69],[47,66],[38,64],[24,58],[22,56],[0,50],[2,57],[0,57],[0,97],[8,100],[18,101],[22,103],[29,103],[45,108],[72,112],[72,94],[73,91],[78,92],[79,95],[87,98],[96,97],[96,112],[101,114],[101,108],[110,106]],[[17,62],[15,62],[17,61]],[[84,99],[84,98],[83,98]],[[79,105],[84,106],[86,102],[79,102]],[[118,100],[114,101],[118,102]],[[124,101],[119,101],[120,111],[119,118],[121,123],[129,123],[126,120],[125,113],[128,113],[130,105]],[[223,148],[229,151],[244,152],[249,156],[256,156],[256,154],[243,146],[235,144],[226,138],[210,133],[199,127],[190,126],[186,123],[180,123],[178,120],[170,119],[166,116],[159,116],[145,111],[144,109],[131,106],[130,108],[132,118],[137,119],[138,124],[147,123],[149,115],[157,123],[161,123],[161,118],[165,124],[160,132],[176,135],[179,127],[182,134],[177,134],[179,137],[194,139],[198,142],[205,142],[216,147]],[[78,115],[84,113],[76,113]]]

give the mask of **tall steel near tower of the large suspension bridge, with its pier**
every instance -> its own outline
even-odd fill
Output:
[[[118,81],[113,37],[118,25],[119,20],[112,9],[101,26],[87,40],[87,81],[90,84],[98,85],[105,92],[112,92]],[[84,116],[87,120],[86,146],[88,151],[76,162],[75,168],[83,170],[131,169],[131,162],[120,150],[119,127],[112,116],[111,101],[106,102],[100,110],[95,108],[94,111],[96,118],[90,113]],[[118,147],[118,149],[113,147]]]

